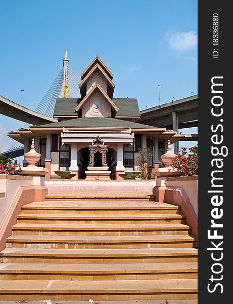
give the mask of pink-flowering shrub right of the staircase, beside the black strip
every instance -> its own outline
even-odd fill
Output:
[[[198,145],[189,148],[189,153],[182,147],[171,164],[184,175],[198,175]]]

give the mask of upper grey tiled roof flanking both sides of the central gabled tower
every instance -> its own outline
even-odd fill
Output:
[[[81,102],[81,98],[57,98],[54,109],[54,117],[77,117],[74,109]],[[113,102],[119,108],[116,118],[139,118],[140,112],[136,98],[113,98]]]

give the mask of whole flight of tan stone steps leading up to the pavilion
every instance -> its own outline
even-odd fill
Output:
[[[197,298],[197,249],[152,196],[48,196],[22,207],[0,253],[0,300]]]

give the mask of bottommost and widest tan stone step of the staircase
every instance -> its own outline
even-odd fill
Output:
[[[1,280],[1,300],[129,300],[197,298],[197,279],[49,281]]]

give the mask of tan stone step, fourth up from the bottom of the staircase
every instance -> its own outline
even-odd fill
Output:
[[[33,236],[15,235],[7,238],[7,248],[160,248],[195,247],[195,238],[171,236]]]

